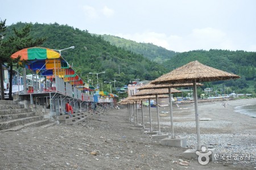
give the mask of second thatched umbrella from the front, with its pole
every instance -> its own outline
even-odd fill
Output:
[[[196,83],[197,86],[203,86],[203,84]],[[151,82],[146,84],[145,86],[141,86],[138,90],[152,90],[152,89],[163,89],[168,88],[169,94],[169,107],[170,107],[170,119],[171,119],[171,138],[175,139],[174,135],[174,118],[172,113],[172,100],[171,100],[171,88],[175,87],[191,87],[193,83],[182,83],[182,84],[152,84]]]

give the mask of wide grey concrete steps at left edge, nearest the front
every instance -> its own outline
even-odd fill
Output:
[[[0,131],[18,131],[23,128],[49,124],[43,113],[32,112],[18,101],[0,100]]]

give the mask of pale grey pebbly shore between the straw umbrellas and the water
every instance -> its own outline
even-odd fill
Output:
[[[226,103],[225,107],[222,105],[224,102]],[[199,103],[200,118],[209,120],[199,121],[200,130],[204,132],[200,134],[201,146],[216,148],[216,158],[217,155],[230,155],[233,156],[232,160],[236,159],[234,164],[251,164],[256,167],[256,120],[254,117],[238,113],[235,110],[237,105],[255,103],[256,99]],[[162,131],[171,135],[170,111],[168,108],[164,108],[159,112],[162,115],[160,117]],[[173,113],[175,135],[186,137],[188,148],[196,148],[194,105],[174,107]],[[153,119],[153,124],[157,126],[156,117]]]

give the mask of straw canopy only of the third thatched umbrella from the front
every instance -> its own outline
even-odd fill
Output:
[[[181,91],[176,90],[175,88],[171,88],[171,93],[175,94],[175,93],[181,93]],[[164,94],[168,94],[168,89],[167,88],[162,88],[162,89],[145,89],[145,90],[141,90],[139,92],[137,92],[136,94],[134,94],[133,96],[147,96],[147,95],[164,95]]]

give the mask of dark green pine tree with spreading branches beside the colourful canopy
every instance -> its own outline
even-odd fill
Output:
[[[4,54],[3,58],[5,58],[5,62],[8,63],[10,66],[10,88],[9,88],[9,100],[12,100],[12,86],[13,86],[13,64],[16,63],[17,67],[19,67],[19,58],[18,59],[11,59],[10,56],[24,48],[30,48],[34,46],[38,46],[43,44],[43,42],[46,40],[46,38],[38,38],[38,39],[33,39],[32,36],[30,36],[30,31],[31,31],[32,24],[26,24],[23,28],[21,29],[16,29],[13,28],[14,31],[14,36],[10,36],[9,39],[5,42],[3,42],[3,47],[4,47]]]

